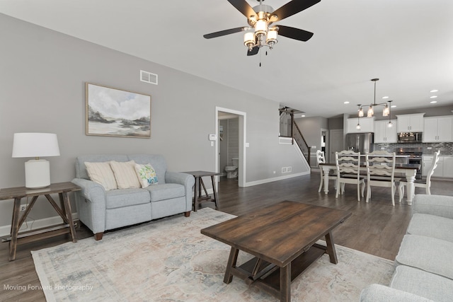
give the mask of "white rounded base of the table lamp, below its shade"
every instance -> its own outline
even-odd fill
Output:
[[[50,185],[50,163],[45,159],[25,162],[25,187],[38,189]]]

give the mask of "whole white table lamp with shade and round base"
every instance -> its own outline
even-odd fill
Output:
[[[59,156],[57,134],[14,134],[13,158],[35,158],[25,162],[25,187],[36,189],[50,185],[50,164],[41,159],[42,156]]]

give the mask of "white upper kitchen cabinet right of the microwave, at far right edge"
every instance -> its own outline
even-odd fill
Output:
[[[453,117],[425,117],[423,127],[423,142],[437,143],[452,141]]]

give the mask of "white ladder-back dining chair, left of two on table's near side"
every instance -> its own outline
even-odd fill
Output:
[[[357,201],[360,202],[360,185],[362,185],[362,197],[365,193],[365,177],[360,175],[360,152],[343,150],[335,153],[337,166],[337,192],[345,192],[345,184],[357,185]]]

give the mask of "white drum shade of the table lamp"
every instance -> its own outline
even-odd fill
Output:
[[[57,134],[15,133],[13,157],[59,156]]]

